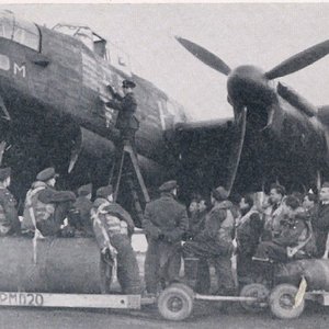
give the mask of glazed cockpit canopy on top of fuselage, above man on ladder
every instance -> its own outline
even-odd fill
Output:
[[[90,50],[109,61],[112,66],[131,76],[129,57],[116,45],[106,42],[88,26],[75,26],[69,24],[56,24],[54,31],[60,32],[80,39]]]

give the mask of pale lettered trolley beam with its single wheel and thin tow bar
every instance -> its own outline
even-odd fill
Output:
[[[0,306],[140,309],[144,305],[157,304],[160,315],[168,320],[186,319],[195,300],[251,303],[258,298],[198,295],[181,283],[170,285],[158,298],[141,295],[0,292]]]

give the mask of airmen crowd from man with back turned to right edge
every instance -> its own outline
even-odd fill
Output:
[[[318,195],[286,194],[284,186],[272,184],[269,195],[229,196],[218,186],[209,197],[194,195],[188,211],[175,200],[175,181],[159,190],[161,196],[147,204],[143,223],[148,238],[145,282],[150,294],[182,281],[182,260],[184,283],[200,294],[228,296],[246,284],[266,280],[269,263],[328,258],[327,182]],[[211,265],[216,287],[211,284]]]

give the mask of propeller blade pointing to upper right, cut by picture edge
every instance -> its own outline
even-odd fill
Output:
[[[309,47],[306,50],[303,50],[288,59],[282,61],[270,71],[265,73],[265,77],[270,80],[284,77],[296,72],[315,61],[321,59],[329,54],[329,39],[319,43],[313,47]]]

